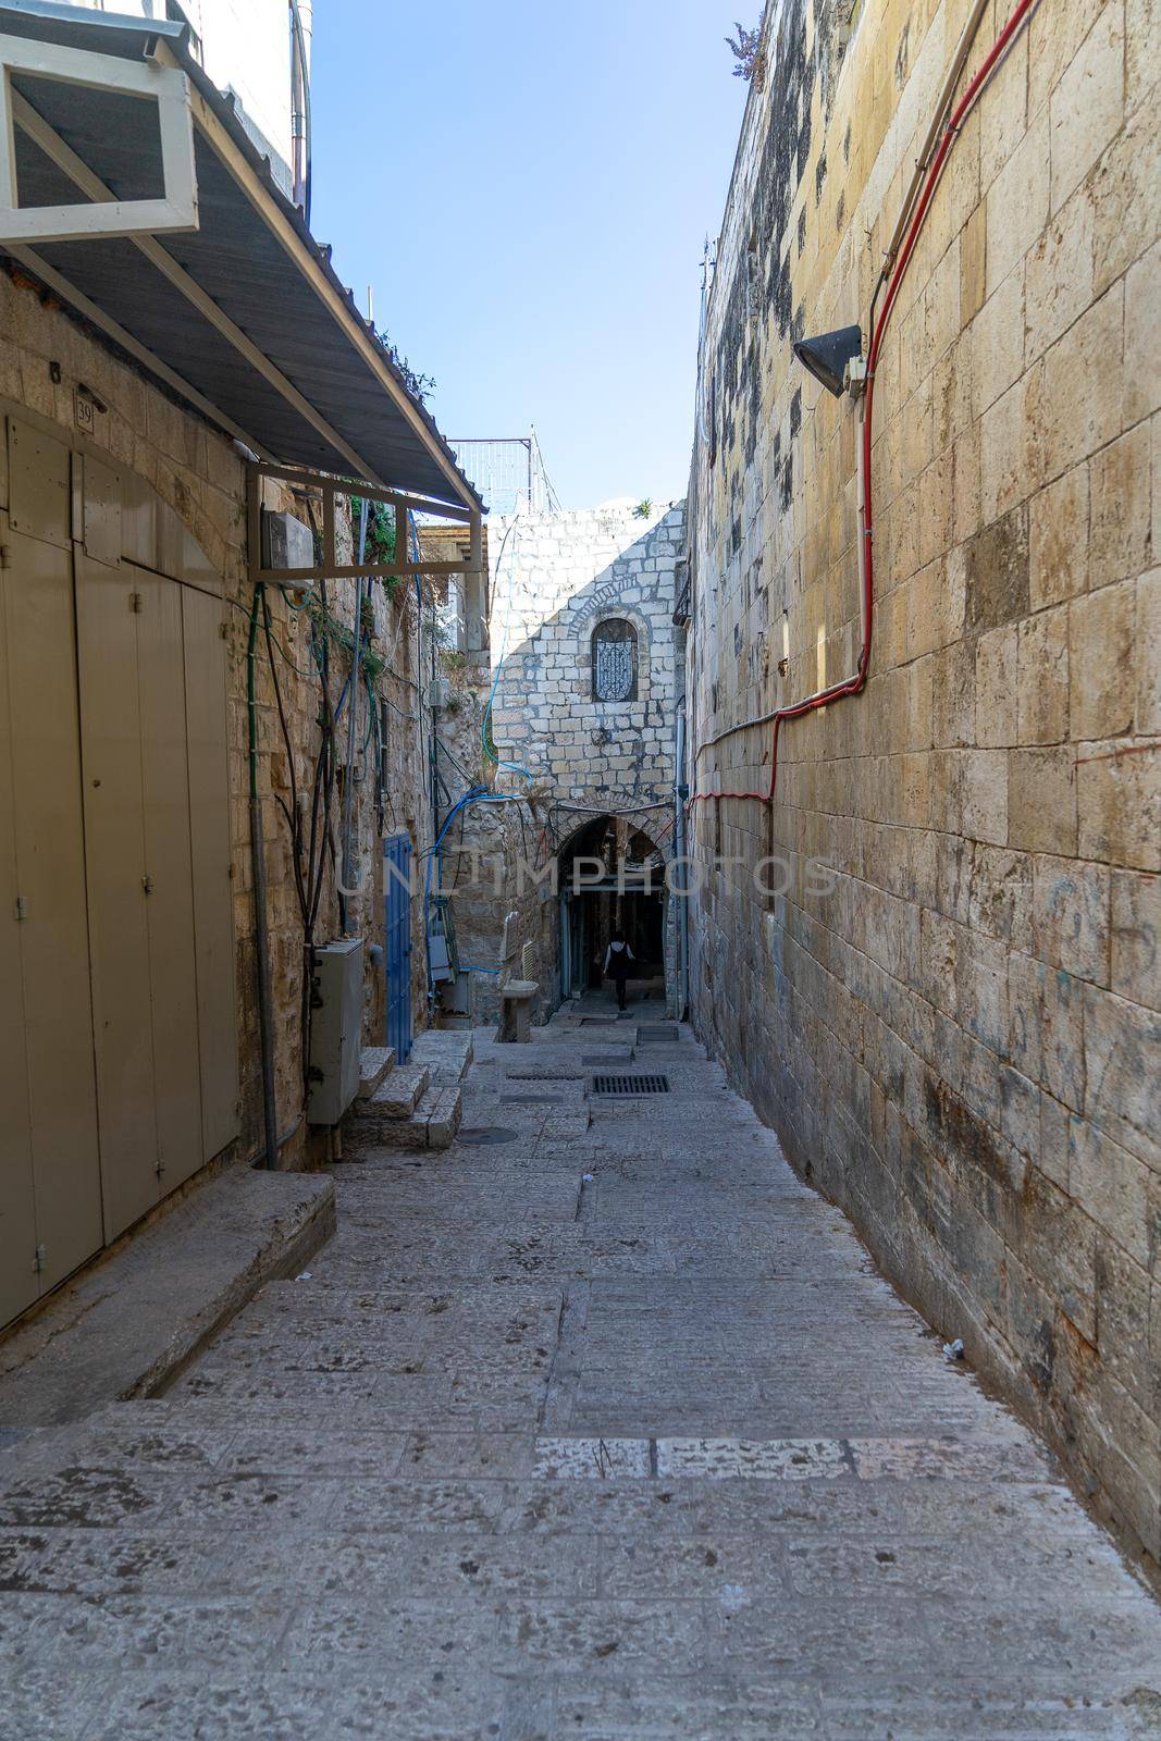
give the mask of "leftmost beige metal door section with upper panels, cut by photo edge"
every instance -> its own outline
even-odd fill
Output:
[[[103,1240],[73,639],[71,456],[61,442],[23,425],[9,423],[7,435],[9,521],[0,519],[0,884],[10,900],[0,949],[0,1321],[63,1281]]]

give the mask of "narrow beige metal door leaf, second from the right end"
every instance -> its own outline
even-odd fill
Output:
[[[162,1193],[202,1165],[186,679],[181,587],[138,575],[138,696],[144,810],[153,1090]]]

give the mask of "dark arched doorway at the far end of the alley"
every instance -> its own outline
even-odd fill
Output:
[[[623,931],[634,952],[630,996],[665,998],[665,853],[634,818],[601,815],[559,851],[560,996],[604,984],[609,938]]]

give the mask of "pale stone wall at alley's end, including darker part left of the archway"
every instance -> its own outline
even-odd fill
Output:
[[[569,836],[602,811],[632,810],[634,827],[672,851],[672,616],[682,545],[681,503],[646,519],[616,503],[489,522],[491,662],[468,656],[461,756],[475,778],[520,804],[475,804],[456,834],[465,876],[468,858],[475,872],[472,890],[456,890],[454,914],[461,956],[484,970],[473,987],[480,1022],[496,1018],[493,970],[508,914],[510,937],[536,951],[538,1017],[560,1001],[559,904],[534,872]],[[592,634],[607,618],[625,618],[637,632],[635,700],[594,700]],[[493,684],[498,763],[480,754]]]

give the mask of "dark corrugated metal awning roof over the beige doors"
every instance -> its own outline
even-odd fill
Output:
[[[245,338],[388,486],[480,507],[432,416],[406,388],[374,329],[331,268],[331,251],[254,150],[233,99],[223,97],[188,49],[185,24],[91,12],[50,0],[0,3],[0,33],[141,59],[160,38],[221,124],[252,185],[240,185],[211,136],[195,127],[197,232],[157,242]],[[150,103],[17,73],[19,94],[120,198],[160,192],[160,138]],[[212,132],[212,127],[211,127]],[[73,181],[17,131],[21,205],[75,204]],[[174,369],[272,456],[339,475],[352,461],[245,360],[228,336],[122,237],[37,242],[35,252],[138,343]],[[33,268],[35,270],[35,268]],[[367,346],[374,345],[369,355]],[[390,376],[386,385],[381,373]],[[411,409],[400,406],[406,397]]]

